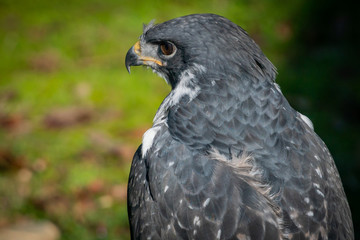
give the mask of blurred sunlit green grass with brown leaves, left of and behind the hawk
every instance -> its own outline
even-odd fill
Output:
[[[49,219],[62,239],[129,239],[126,195],[114,189],[126,190],[128,152],[170,90],[151,71],[125,70],[142,23],[218,13],[281,62],[271,46],[287,41],[274,31],[294,11],[284,6],[274,14],[276,4],[256,2],[1,0],[0,224]],[[46,124],[69,107],[90,109],[90,119]]]

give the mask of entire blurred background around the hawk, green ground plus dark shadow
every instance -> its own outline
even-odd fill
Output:
[[[360,236],[360,21],[347,0],[0,0],[0,228],[47,219],[61,239],[129,239],[131,158],[170,88],[128,75],[125,54],[143,23],[205,12],[277,66],[333,154]]]

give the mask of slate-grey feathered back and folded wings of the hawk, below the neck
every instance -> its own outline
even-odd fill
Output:
[[[220,106],[221,92],[164,111],[130,174],[134,239],[351,239],[331,155],[277,94],[266,119],[242,116],[250,103]]]

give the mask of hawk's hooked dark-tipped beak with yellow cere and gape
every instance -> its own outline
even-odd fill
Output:
[[[137,41],[126,54],[125,66],[126,70],[130,73],[131,66],[150,65],[151,62],[156,63],[159,66],[163,66],[163,63],[149,56],[141,55],[140,41]]]

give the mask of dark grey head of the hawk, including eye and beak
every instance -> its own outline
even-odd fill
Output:
[[[219,79],[250,74],[274,81],[276,75],[275,67],[242,28],[214,14],[193,14],[144,26],[125,64],[129,72],[130,66],[152,68],[173,89],[181,74],[191,68]]]

